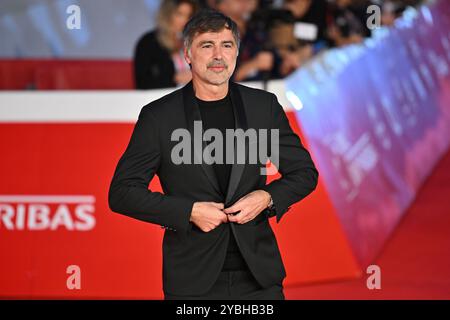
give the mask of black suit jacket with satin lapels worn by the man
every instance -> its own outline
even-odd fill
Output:
[[[278,222],[317,185],[318,172],[310,154],[289,126],[275,95],[235,83],[230,83],[230,90],[236,128],[279,129],[280,179],[266,185],[266,176],[260,174],[263,165],[233,164],[223,199],[211,165],[175,165],[171,161],[172,147],[178,143],[171,141],[172,132],[185,128],[193,137],[193,123],[201,120],[189,83],[142,108],[111,182],[112,211],[166,228],[163,286],[167,294],[207,292],[221,271],[228,237],[233,235],[257,281],[263,287],[281,284],[286,273],[265,212],[245,224],[221,224],[203,232],[189,221],[192,206],[196,201],[214,201],[229,207],[244,195],[263,189],[272,196]],[[155,174],[164,194],[148,190]]]

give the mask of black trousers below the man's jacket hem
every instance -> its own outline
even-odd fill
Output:
[[[200,296],[175,296],[165,300],[284,300],[282,284],[262,288],[248,270],[222,271],[212,288]]]

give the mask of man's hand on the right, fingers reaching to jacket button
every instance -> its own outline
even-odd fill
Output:
[[[226,208],[224,212],[228,214],[228,221],[243,224],[253,220],[267,208],[269,202],[270,194],[267,191],[256,190],[239,199],[231,207]],[[239,213],[233,215],[237,212]]]

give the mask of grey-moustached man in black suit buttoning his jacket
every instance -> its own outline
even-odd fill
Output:
[[[166,299],[284,299],[286,273],[269,218],[279,222],[311,193],[318,172],[275,95],[229,82],[239,47],[230,18],[200,12],[186,24],[184,41],[192,81],[142,108],[109,206],[166,229]],[[230,130],[231,143],[207,137],[228,138]],[[270,138],[252,141],[255,135],[245,135],[251,130]],[[251,161],[261,141],[281,173],[267,185],[267,158]],[[221,154],[226,161],[217,160]],[[164,194],[148,190],[155,174]]]

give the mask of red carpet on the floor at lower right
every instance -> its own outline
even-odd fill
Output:
[[[381,289],[358,280],[286,287],[287,299],[450,299],[450,152],[374,262]],[[331,266],[332,267],[332,266]]]

